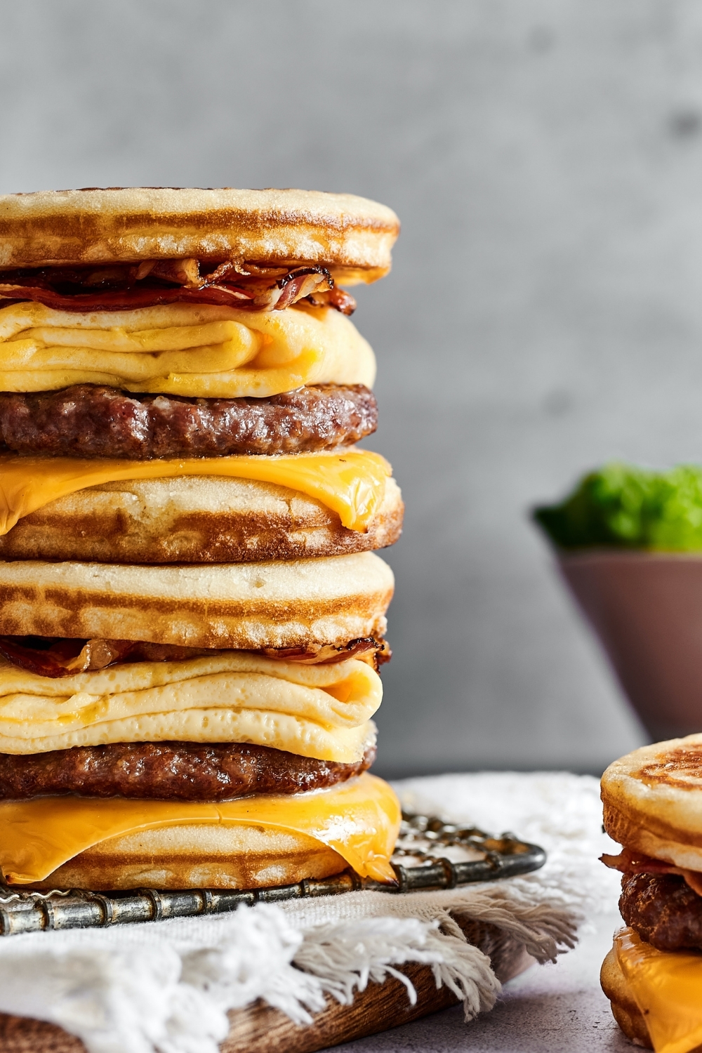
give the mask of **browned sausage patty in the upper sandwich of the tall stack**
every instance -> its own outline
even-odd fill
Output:
[[[100,384],[0,395],[0,438],[19,454],[217,457],[350,445],[375,432],[363,384],[320,384],[269,398],[133,395]]]

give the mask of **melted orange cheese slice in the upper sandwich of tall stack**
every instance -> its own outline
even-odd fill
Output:
[[[0,454],[0,535],[31,512],[88,486],[184,475],[227,476],[288,486],[332,509],[344,526],[364,533],[382,503],[390,473],[384,457],[366,450],[148,461]]]

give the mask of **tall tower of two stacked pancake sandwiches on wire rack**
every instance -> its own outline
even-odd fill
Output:
[[[403,510],[344,286],[397,234],[300,191],[0,197],[6,883],[394,878]]]

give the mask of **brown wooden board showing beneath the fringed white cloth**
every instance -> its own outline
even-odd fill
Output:
[[[487,954],[503,982],[517,976],[534,959],[495,926],[466,922],[465,936]],[[300,1027],[277,1009],[256,1002],[229,1013],[229,1034],[221,1045],[222,1053],[315,1053],[340,1042],[362,1038],[397,1028],[436,1013],[457,1002],[447,988],[439,988],[430,968],[408,965],[402,972],[417,991],[412,1006],[400,980],[389,977],[383,984],[368,984],[357,993],[352,1006],[340,1006],[327,997],[326,1008],[314,1022]],[[2,1053],[86,1053],[79,1038],[53,1024],[0,1013],[0,1050]]]

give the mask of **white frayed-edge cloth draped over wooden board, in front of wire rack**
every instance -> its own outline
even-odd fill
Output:
[[[57,1024],[88,1053],[218,1053],[227,1011],[258,998],[309,1025],[327,996],[350,1005],[356,991],[393,976],[414,1004],[415,989],[400,971],[408,962],[430,967],[437,988],[449,988],[463,1002],[466,1019],[492,1009],[500,981],[456,917],[498,926],[540,961],[573,946],[574,915],[544,903],[474,894],[450,913],[443,906],[432,913],[301,931],[279,907],[262,903],[220,917],[195,941],[179,938],[179,928],[171,938],[138,946],[132,934],[113,930],[109,948],[89,939],[40,945],[14,937],[0,946],[0,1012]]]

